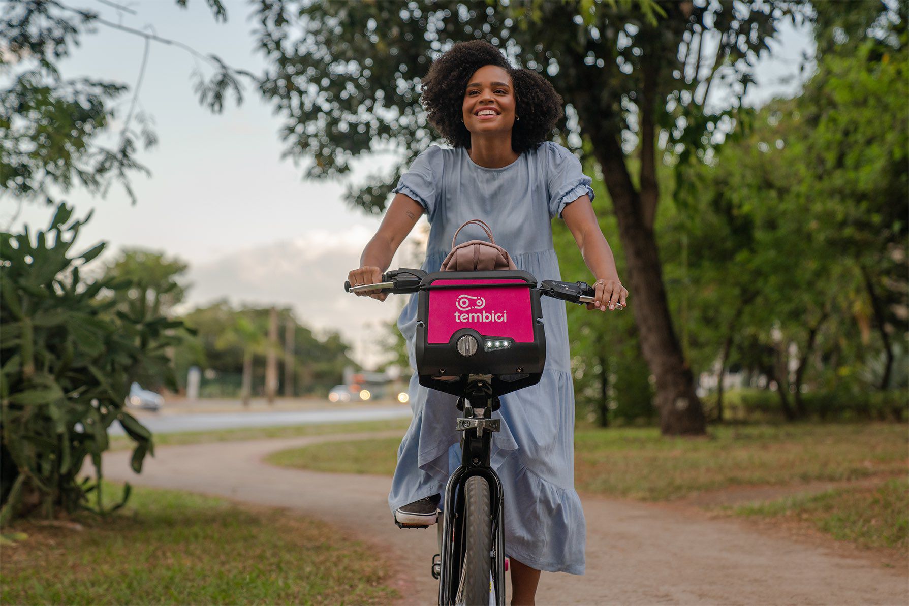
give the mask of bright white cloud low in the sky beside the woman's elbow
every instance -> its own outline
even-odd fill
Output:
[[[235,304],[288,306],[300,323],[341,333],[354,346],[359,362],[379,363],[386,334],[379,323],[397,317],[404,297],[380,303],[344,291],[347,273],[359,267],[360,254],[372,236],[365,226],[317,230],[292,241],[225,254],[190,268],[192,287],[186,303],[195,307],[226,298]],[[411,250],[414,245],[405,243],[402,248]],[[392,267],[397,267],[397,256]]]

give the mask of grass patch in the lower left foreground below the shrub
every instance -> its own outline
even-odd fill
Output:
[[[106,485],[107,492],[117,488]],[[185,492],[134,489],[85,530],[16,522],[4,604],[378,604],[397,592],[375,549],[322,522]]]

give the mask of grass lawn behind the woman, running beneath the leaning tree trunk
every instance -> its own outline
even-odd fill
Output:
[[[269,461],[320,472],[395,471],[400,440],[319,444]],[[583,492],[667,501],[734,486],[889,477],[906,471],[903,424],[716,427],[707,438],[663,438],[654,428],[575,433],[575,486]]]

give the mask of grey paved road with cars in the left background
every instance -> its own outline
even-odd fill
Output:
[[[384,421],[405,419],[411,416],[409,406],[362,406],[336,410],[263,411],[263,412],[189,412],[184,414],[144,414],[142,423],[154,433],[203,432],[241,427],[276,427],[279,425],[307,425],[316,423]],[[115,423],[111,435],[123,435],[123,428]]]

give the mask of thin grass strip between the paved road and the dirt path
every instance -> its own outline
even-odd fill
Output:
[[[211,442],[242,442],[245,440],[265,440],[270,438],[296,438],[310,435],[329,435],[332,433],[381,432],[400,429],[402,434],[410,424],[410,418],[391,419],[388,421],[364,421],[345,423],[325,423],[315,425],[290,425],[282,427],[249,427],[226,429],[216,432],[176,432],[155,433],[155,446],[178,444],[202,444]],[[126,436],[111,438],[111,450],[131,449],[135,442]]]

